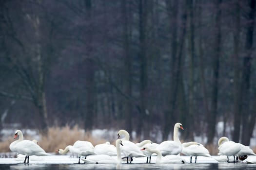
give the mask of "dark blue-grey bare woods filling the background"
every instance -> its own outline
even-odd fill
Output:
[[[1,126],[164,140],[182,122],[185,140],[248,145],[255,11],[255,0],[0,0]]]

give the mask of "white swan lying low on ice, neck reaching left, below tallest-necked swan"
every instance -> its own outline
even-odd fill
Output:
[[[156,164],[158,163],[185,163],[185,160],[183,160],[179,155],[166,155],[162,156],[161,152],[158,149],[151,149],[151,148],[142,148],[142,151],[148,151],[151,153],[157,153],[157,159]]]

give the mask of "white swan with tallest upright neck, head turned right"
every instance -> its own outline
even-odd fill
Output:
[[[172,154],[177,155],[182,151],[182,145],[178,138],[178,129],[184,130],[181,123],[176,123],[174,125],[174,140],[163,141],[157,147],[157,149],[162,153],[163,156]]]

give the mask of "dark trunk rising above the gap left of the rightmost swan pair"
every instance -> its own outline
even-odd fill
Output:
[[[215,28],[217,31],[215,39],[215,55],[213,56],[213,89],[212,89],[212,110],[208,116],[208,131],[207,131],[207,143],[213,143],[213,139],[216,132],[216,118],[217,118],[217,102],[218,102],[218,77],[219,77],[219,57],[221,55],[221,30],[220,30],[220,19],[221,19],[221,10],[220,10],[221,0],[217,0],[217,14],[215,18]]]

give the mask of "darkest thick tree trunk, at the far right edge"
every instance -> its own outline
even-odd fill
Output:
[[[252,130],[250,126],[255,124],[255,113],[250,112],[250,76],[251,76],[251,63],[252,63],[252,47],[254,38],[254,23],[255,23],[255,0],[249,0],[249,14],[248,14],[248,25],[246,29],[245,39],[245,56],[243,59],[243,70],[242,70],[242,89],[243,91],[243,130],[242,130],[242,143],[244,145],[250,144],[252,136]],[[254,111],[253,111],[254,112]],[[254,119],[253,119],[254,118]]]

